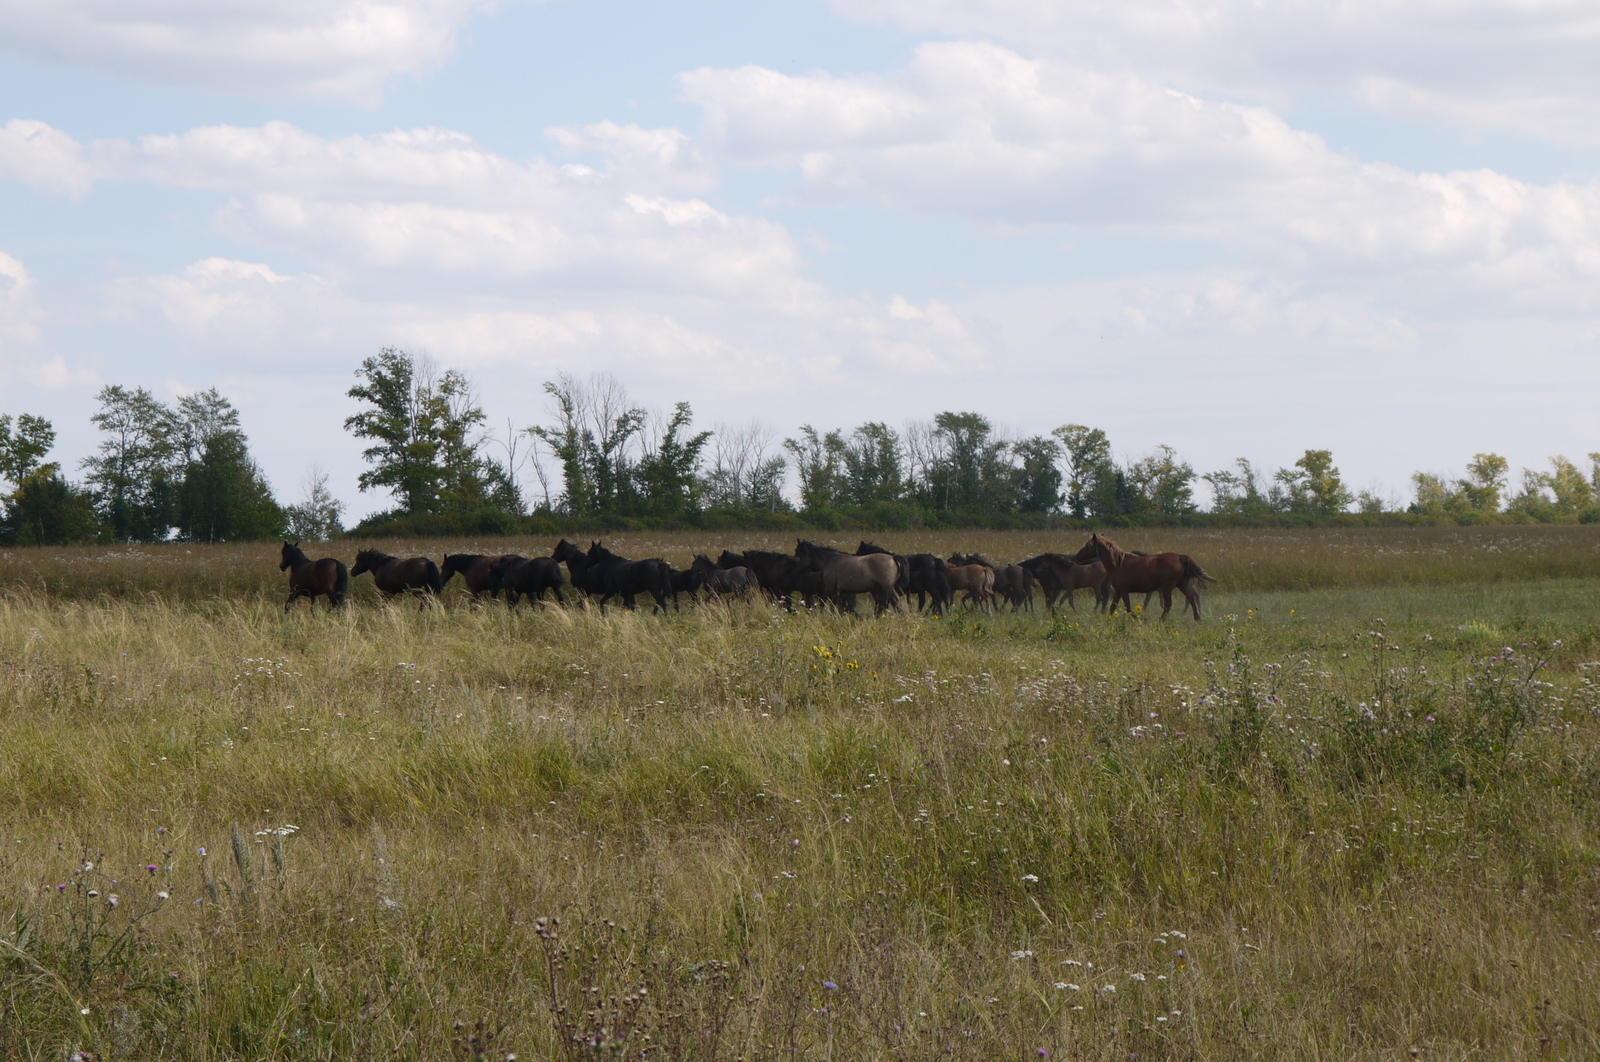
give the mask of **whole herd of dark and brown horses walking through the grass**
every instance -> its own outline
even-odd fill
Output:
[[[565,566],[565,571],[563,571]],[[1144,595],[1149,608],[1152,595],[1162,595],[1162,617],[1173,608],[1173,590],[1184,595],[1186,608],[1200,619],[1200,587],[1216,582],[1187,553],[1141,553],[1118,549],[1102,534],[1077,553],[1040,553],[1014,565],[997,565],[981,553],[894,553],[862,542],[854,553],[800,539],[794,553],[723,550],[714,561],[698,555],[686,569],[675,569],[661,558],[629,560],[618,557],[600,542],[587,550],[562,539],[549,557],[518,553],[446,553],[435,565],[427,557],[390,557],[374,549],[357,552],[355,565],[325,557],[309,558],[298,542],[283,544],[280,571],[290,573],[288,611],[296,598],[312,603],[326,597],[328,605],[344,605],[350,579],[371,573],[373,585],[384,598],[416,593],[438,597],[445,584],[458,574],[474,600],[483,595],[506,597],[512,608],[526,597],[542,601],[549,592],[557,605],[566,605],[563,587],[597,598],[600,609],[613,598],[635,608],[640,597],[654,600],[658,611],[680,606],[680,595],[698,601],[704,592],[712,598],[770,597],[784,608],[797,601],[806,608],[830,605],[854,613],[856,598],[869,595],[878,616],[917,598],[917,609],[942,614],[955,606],[957,595],[965,603],[992,611],[1000,603],[1013,611],[1032,609],[1035,589],[1045,605],[1058,608],[1062,600],[1074,611],[1077,590],[1091,590],[1098,609],[1115,613],[1122,605],[1133,613],[1134,593]]]

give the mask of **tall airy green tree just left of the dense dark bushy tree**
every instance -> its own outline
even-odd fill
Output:
[[[158,541],[171,533],[179,421],[139,387],[102,387],[94,456],[83,459],[101,518],[118,541]]]

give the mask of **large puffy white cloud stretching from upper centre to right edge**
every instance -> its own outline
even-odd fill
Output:
[[[789,170],[821,198],[1203,237],[1326,275],[1408,269],[1594,302],[1595,184],[1362,163],[1264,107],[979,42],[922,45],[893,77],[742,67],[683,83],[728,158]]]

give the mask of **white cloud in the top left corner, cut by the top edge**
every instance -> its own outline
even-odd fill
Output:
[[[8,0],[0,48],[30,61],[245,96],[381,99],[438,67],[496,0]]]

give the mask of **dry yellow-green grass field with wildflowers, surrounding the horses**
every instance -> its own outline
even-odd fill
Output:
[[[0,1057],[1600,1057],[1600,528],[1118,541],[1206,622],[10,550]]]

